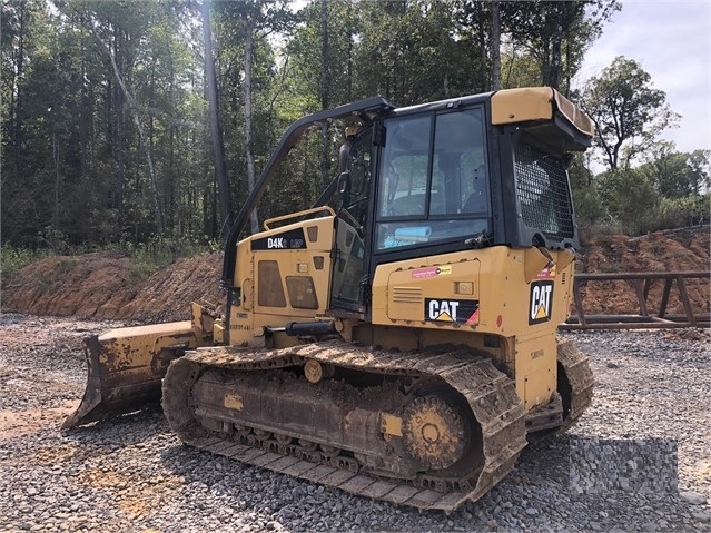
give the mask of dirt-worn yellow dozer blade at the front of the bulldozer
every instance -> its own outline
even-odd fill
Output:
[[[87,388],[62,428],[139,411],[159,399],[170,362],[197,344],[190,320],[124,327],[85,338]]]

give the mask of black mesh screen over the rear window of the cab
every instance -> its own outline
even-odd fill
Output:
[[[563,161],[520,144],[515,172],[523,223],[546,236],[573,237],[573,209]]]

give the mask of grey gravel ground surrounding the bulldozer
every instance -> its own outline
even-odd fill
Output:
[[[0,315],[0,531],[711,531],[709,332],[569,334],[592,407],[445,516],[197,452],[157,409],[61,433],[113,326]]]

